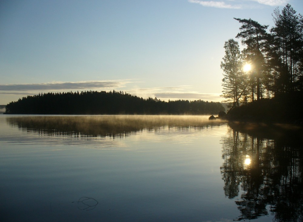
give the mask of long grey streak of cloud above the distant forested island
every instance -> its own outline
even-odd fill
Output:
[[[0,85],[0,91],[37,91],[37,90],[69,90],[69,89],[95,89],[95,88],[120,88],[129,81],[84,81],[84,82],[52,82],[33,84],[8,84]]]

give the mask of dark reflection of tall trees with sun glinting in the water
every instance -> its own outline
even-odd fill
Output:
[[[270,209],[275,221],[302,221],[302,130],[229,125],[222,137],[221,174],[228,198],[237,197],[241,188],[236,220],[256,219]]]

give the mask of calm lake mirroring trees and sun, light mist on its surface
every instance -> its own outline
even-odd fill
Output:
[[[303,134],[208,116],[0,116],[2,221],[302,221]]]

